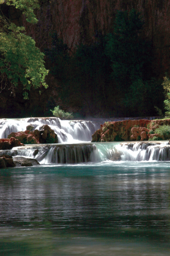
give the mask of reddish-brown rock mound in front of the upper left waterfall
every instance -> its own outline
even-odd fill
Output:
[[[39,130],[26,130],[24,132],[11,133],[8,135],[8,139],[11,137],[18,139],[24,144],[49,144],[58,143],[57,134],[48,125],[42,125]]]

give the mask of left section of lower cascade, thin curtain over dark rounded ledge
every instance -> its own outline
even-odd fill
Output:
[[[100,162],[100,155],[93,144],[29,145],[12,150],[0,150],[0,155],[22,156],[36,159],[40,164],[76,164]]]

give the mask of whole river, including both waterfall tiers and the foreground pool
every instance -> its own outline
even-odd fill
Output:
[[[99,123],[27,120],[53,126],[60,143],[6,151],[38,149],[40,165],[0,169],[0,255],[170,255],[167,142],[90,143]],[[1,138],[27,120],[1,120]]]

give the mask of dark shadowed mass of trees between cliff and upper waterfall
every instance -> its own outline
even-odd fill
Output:
[[[44,49],[49,88],[42,88],[42,96],[33,89],[29,100],[20,87],[15,100],[4,90],[8,104],[3,109],[1,101],[0,117],[51,116],[56,105],[75,118],[157,115],[154,106],[163,109],[162,80],[154,73],[153,45],[143,25],[134,9],[118,11],[111,33],[96,31],[90,44],[74,52],[54,31],[51,48]]]

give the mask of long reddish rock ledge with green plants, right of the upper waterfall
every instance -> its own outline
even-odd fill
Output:
[[[92,135],[92,142],[109,141],[143,141],[167,140],[163,135],[154,133],[154,130],[162,125],[170,125],[170,119],[166,120],[125,120],[117,122],[105,122],[100,129]],[[152,133],[149,133],[152,131]]]

